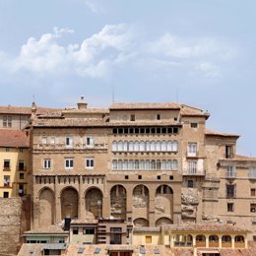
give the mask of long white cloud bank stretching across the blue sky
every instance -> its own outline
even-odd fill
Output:
[[[166,32],[149,41],[133,26],[106,25],[82,42],[64,45],[70,29],[53,28],[39,38],[30,37],[17,56],[0,52],[0,71],[35,76],[75,75],[107,78],[120,67],[144,72],[222,76],[222,66],[235,58],[235,48],[210,37],[182,37]]]

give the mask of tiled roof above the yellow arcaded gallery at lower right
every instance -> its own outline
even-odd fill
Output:
[[[232,224],[182,224],[182,225],[165,225],[164,230],[172,231],[206,231],[206,232],[249,232]]]

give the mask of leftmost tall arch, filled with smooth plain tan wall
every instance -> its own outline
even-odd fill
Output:
[[[39,198],[39,226],[45,227],[54,224],[55,197],[54,192],[48,188],[42,188],[38,193]]]

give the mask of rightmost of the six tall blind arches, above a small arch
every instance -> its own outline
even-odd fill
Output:
[[[173,220],[173,191],[168,185],[160,185],[155,198],[156,219],[166,217]]]

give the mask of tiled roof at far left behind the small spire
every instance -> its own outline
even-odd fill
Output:
[[[56,111],[60,111],[60,108],[51,108],[51,107],[36,107],[36,114],[47,114]],[[22,114],[22,115],[31,115],[32,114],[32,107],[31,106],[0,106],[0,113],[1,114]]]

